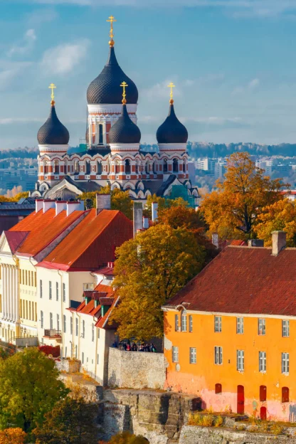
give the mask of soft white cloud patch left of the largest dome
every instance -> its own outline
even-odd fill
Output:
[[[83,39],[76,43],[63,43],[49,48],[43,54],[41,67],[46,73],[64,75],[70,73],[86,56],[90,41]]]

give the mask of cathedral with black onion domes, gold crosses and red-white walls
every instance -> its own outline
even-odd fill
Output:
[[[111,30],[107,63],[87,91],[86,149],[68,154],[69,132],[58,120],[52,84],[50,114],[37,135],[38,182],[31,196],[73,199],[109,184],[111,189],[128,190],[132,199],[140,201],[152,194],[170,196],[176,186],[182,191],[180,196],[186,191],[191,199],[197,198],[199,192],[191,186],[188,174],[188,132],[174,110],[174,85],[169,85],[169,114],[157,129],[158,152],[145,152],[140,147],[141,132],[137,127],[137,86],[117,62],[115,18],[111,16],[108,21]]]

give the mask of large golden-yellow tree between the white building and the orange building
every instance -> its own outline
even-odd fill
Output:
[[[159,224],[117,248],[116,293],[112,312],[120,337],[162,337],[162,305],[201,270],[202,245],[186,228]]]

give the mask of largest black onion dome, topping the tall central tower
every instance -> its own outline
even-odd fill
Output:
[[[134,82],[127,77],[118,65],[114,48],[110,48],[109,58],[105,67],[95,80],[90,83],[86,94],[89,104],[119,104],[122,101],[120,84],[126,82],[129,103],[137,103],[138,90]]]

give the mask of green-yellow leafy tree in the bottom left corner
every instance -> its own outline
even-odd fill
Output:
[[[0,359],[1,428],[12,423],[28,432],[67,393],[54,361],[38,349]]]

